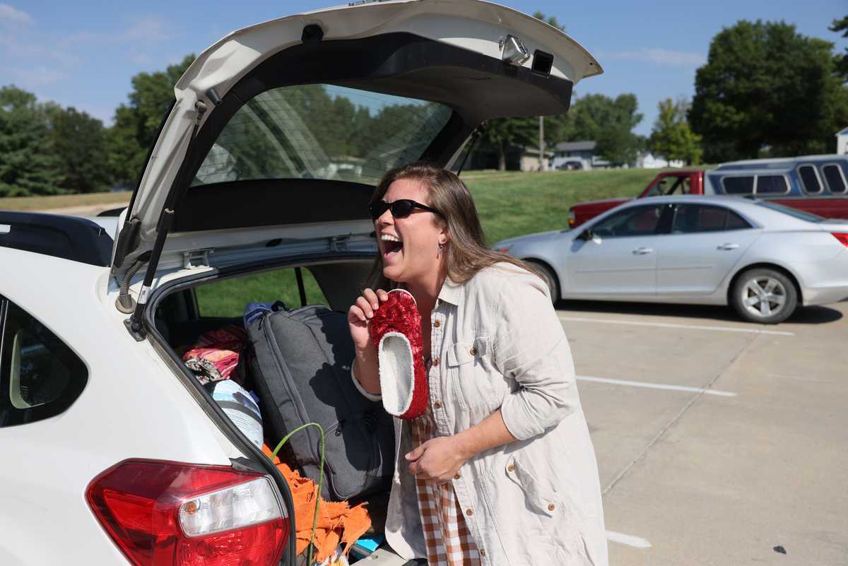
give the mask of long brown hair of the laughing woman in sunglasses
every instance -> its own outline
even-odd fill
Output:
[[[449,234],[449,243],[444,248],[444,253],[450,280],[465,283],[481,269],[500,262],[514,264],[534,273],[533,269],[521,260],[495,252],[486,246],[483,227],[477,217],[477,207],[474,206],[468,187],[458,176],[436,164],[419,161],[388,171],[377,185],[371,203],[381,201],[388,187],[400,179],[416,180],[427,186],[429,206],[441,213],[433,214],[432,217],[433,222],[440,228],[446,227]],[[433,250],[433,253],[435,252],[436,250]],[[368,280],[373,289],[396,286],[393,281],[382,275],[382,256],[379,253]]]

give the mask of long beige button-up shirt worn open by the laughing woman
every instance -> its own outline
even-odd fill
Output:
[[[438,436],[500,408],[518,439],[480,452],[453,480],[483,566],[606,566],[598,466],[547,286],[512,264],[483,269],[461,285],[445,280],[430,324]],[[415,479],[404,458],[409,424],[395,419],[394,431],[386,537],[401,557],[425,558]]]

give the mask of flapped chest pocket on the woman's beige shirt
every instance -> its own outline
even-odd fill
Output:
[[[488,336],[477,336],[473,341],[463,341],[448,347],[448,380],[456,393],[460,408],[492,407],[500,403],[495,398],[492,383],[492,341]]]

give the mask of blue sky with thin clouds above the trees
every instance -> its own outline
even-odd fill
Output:
[[[132,75],[164,69],[245,25],[336,3],[4,0],[0,86],[20,86],[40,100],[74,106],[109,124],[114,108],[126,102]],[[644,114],[636,131],[644,135],[650,133],[660,100],[692,96],[695,69],[706,62],[712,36],[739,19],[782,19],[807,36],[835,42],[840,51],[848,47],[828,31],[833,19],[848,14],[845,0],[501,3],[555,15],[605,69],[604,75],[578,84],[577,95],[633,92]]]

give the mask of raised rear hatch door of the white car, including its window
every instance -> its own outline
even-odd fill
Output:
[[[555,27],[480,0],[353,3],[235,31],[176,84],[113,275],[141,261],[149,287],[163,253],[371,230],[389,169],[449,166],[487,119],[565,113],[601,72]]]

